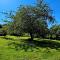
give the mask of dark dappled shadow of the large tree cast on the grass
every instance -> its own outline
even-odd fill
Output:
[[[51,49],[59,49],[60,48],[60,43],[56,42],[56,41],[51,41],[51,40],[41,40],[41,41],[37,41],[37,40],[23,40],[20,44],[16,43],[16,42],[12,42],[10,44],[8,44],[8,46],[10,45],[14,45],[13,49],[16,50],[24,50],[24,51],[34,51],[35,49],[38,49],[37,47],[41,47],[41,48],[51,48]]]

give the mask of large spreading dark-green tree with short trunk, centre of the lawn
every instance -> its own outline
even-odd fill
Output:
[[[20,7],[16,14],[10,15],[14,29],[29,33],[31,40],[34,34],[44,36],[47,32],[47,21],[53,22],[52,10],[43,0],[37,0],[34,6]]]

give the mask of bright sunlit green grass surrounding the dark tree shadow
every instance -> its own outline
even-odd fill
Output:
[[[8,39],[10,38],[10,39]],[[17,39],[18,38],[18,39]],[[0,37],[0,60],[60,60],[60,49],[52,49],[49,47],[29,48],[28,51],[16,48],[15,44],[21,44],[21,39],[28,37]],[[56,41],[59,42],[59,41]]]

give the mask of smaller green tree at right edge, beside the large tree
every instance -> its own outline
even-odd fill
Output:
[[[50,28],[51,35],[55,35],[55,39],[60,39],[60,25],[54,25]]]

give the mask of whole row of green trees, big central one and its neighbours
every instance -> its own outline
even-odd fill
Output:
[[[34,37],[46,38],[48,34],[50,38],[60,35],[60,25],[48,29],[48,22],[53,23],[55,19],[49,5],[43,0],[37,0],[34,6],[20,6],[16,13],[8,13],[8,17],[12,22],[3,26],[6,34],[20,36],[28,33],[31,40]]]

